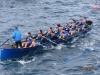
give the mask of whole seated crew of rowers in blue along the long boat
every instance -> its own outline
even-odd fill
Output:
[[[84,17],[80,19],[80,22],[76,22],[73,19],[70,25],[66,23],[64,27],[57,24],[54,31],[52,27],[49,27],[45,34],[43,34],[42,30],[39,30],[35,37],[32,37],[31,33],[28,32],[26,40],[22,42],[22,47],[34,47],[38,44],[50,42],[50,40],[53,41],[59,38],[67,38],[67,36],[75,34],[76,31],[80,32],[85,29],[86,25],[86,17]]]

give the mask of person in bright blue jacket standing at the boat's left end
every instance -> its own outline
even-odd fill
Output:
[[[20,46],[20,48],[22,48],[21,32],[18,30],[18,27],[15,27],[15,30],[13,31],[11,38],[14,39],[16,48],[18,48],[18,46]]]

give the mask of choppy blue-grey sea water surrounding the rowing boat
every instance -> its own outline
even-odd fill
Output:
[[[0,43],[10,37],[14,26],[25,36],[29,31],[45,32],[56,23],[64,25],[73,18],[87,16],[94,22],[85,36],[53,48],[57,54],[40,51],[0,62],[0,75],[100,75],[100,8],[92,9],[94,3],[95,0],[0,0]],[[64,61],[66,57],[70,60]]]

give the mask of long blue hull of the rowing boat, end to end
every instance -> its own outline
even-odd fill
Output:
[[[68,36],[66,39],[58,39],[55,40],[54,42],[56,44],[62,43],[62,42],[67,42],[71,39],[73,39],[74,37],[80,36],[82,34],[86,34],[87,32],[89,32],[92,29],[92,22],[90,24],[88,24],[88,27],[85,30],[82,30],[81,32],[76,32],[74,35],[72,36]],[[55,45],[54,43],[46,43],[43,45],[38,45],[35,47],[28,47],[28,48],[19,48],[19,49],[5,49],[5,48],[0,48],[0,60],[6,60],[6,59],[10,59],[10,58],[17,58],[20,56],[24,56],[30,52],[34,52],[36,50],[42,50],[43,46],[46,47],[50,47],[51,45]]]

